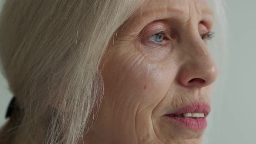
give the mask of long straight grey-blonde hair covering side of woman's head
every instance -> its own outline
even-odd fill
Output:
[[[7,0],[0,16],[0,62],[22,111],[2,128],[0,141],[78,143],[92,128],[103,97],[102,56],[142,3]]]

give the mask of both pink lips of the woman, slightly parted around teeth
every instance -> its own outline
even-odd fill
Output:
[[[199,131],[204,130],[207,127],[207,120],[206,117],[210,113],[210,105],[202,104],[202,103],[196,103],[192,105],[184,106],[180,109],[178,109],[175,112],[172,112],[170,114],[164,115],[167,119],[174,121],[177,124],[183,125],[187,127],[190,130]],[[188,117],[172,117],[170,115],[181,115],[183,113],[203,113],[203,118],[188,118]]]

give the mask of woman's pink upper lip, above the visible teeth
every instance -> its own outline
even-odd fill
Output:
[[[184,113],[203,113],[206,117],[210,113],[210,105],[204,103],[195,103],[192,105],[186,105],[184,107],[178,108],[176,111],[169,113],[167,115],[181,115]]]

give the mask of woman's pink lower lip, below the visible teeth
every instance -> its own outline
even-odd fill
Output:
[[[206,118],[188,118],[188,117],[171,117],[165,115],[168,119],[175,121],[177,124],[181,124],[186,126],[190,130],[199,131],[204,130],[207,127],[207,120]]]

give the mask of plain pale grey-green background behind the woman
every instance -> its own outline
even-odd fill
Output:
[[[204,143],[256,144],[256,1],[226,3],[229,46],[225,87],[223,95],[212,97],[213,111]],[[0,75],[0,125],[6,121],[11,97]]]

